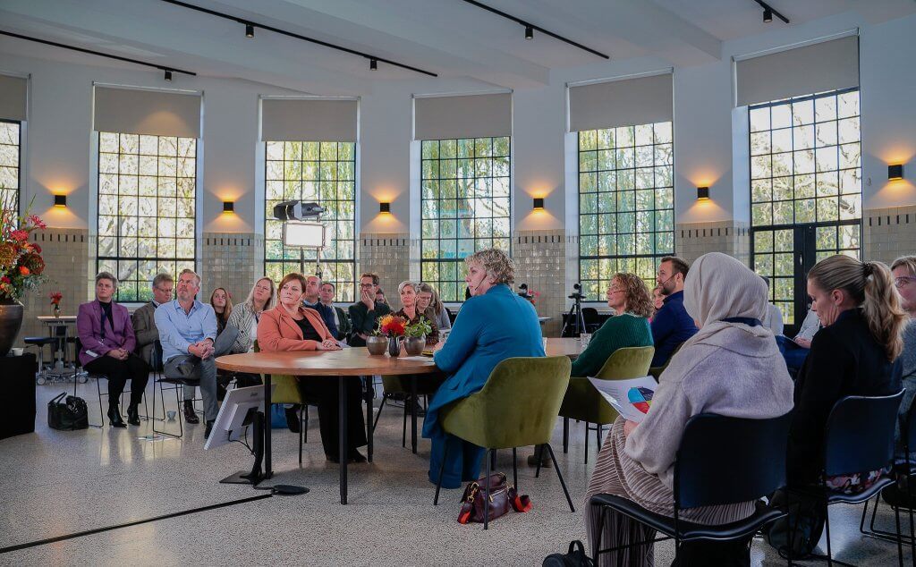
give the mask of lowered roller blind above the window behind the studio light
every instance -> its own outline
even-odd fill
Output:
[[[356,101],[264,99],[261,140],[355,142],[356,114]]]

